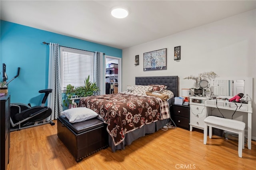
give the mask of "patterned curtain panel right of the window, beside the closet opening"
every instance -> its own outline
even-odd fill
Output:
[[[104,54],[102,52],[94,53],[93,60],[93,82],[96,82],[96,85],[99,87],[100,91],[96,92],[95,95],[103,95],[104,94]]]

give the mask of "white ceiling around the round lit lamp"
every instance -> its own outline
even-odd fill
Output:
[[[130,15],[113,18],[122,6]],[[125,49],[256,9],[255,0],[1,0],[1,20]]]

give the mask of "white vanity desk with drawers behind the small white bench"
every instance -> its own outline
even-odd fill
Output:
[[[198,100],[199,100],[199,103],[196,103],[196,102],[198,102]],[[219,109],[226,109],[226,110],[230,110],[230,111],[236,110],[239,112],[247,113],[247,115],[248,115],[248,125],[247,125],[248,126],[248,131],[247,131],[248,149],[252,149],[252,102],[251,101],[248,101],[248,104],[244,104],[244,103],[236,103],[235,104],[235,103],[229,102],[229,101],[222,101],[222,100],[216,101],[216,99],[208,99],[206,97],[190,97],[190,101],[191,101],[190,105],[192,105],[192,107],[190,107],[190,131],[192,131],[192,127],[204,129],[204,127],[202,125],[200,125],[200,121],[202,121],[203,119],[205,119],[205,117],[207,117],[209,115],[211,107],[214,107],[214,108],[218,107]],[[238,106],[237,109],[236,109],[236,105]],[[199,108],[198,113],[200,113],[201,115],[197,114],[193,118],[193,115],[195,115],[195,113],[192,113],[193,109],[191,109],[191,108],[193,108],[193,106],[196,107],[196,109]],[[202,110],[204,114],[202,114],[202,112],[200,112],[200,107],[205,107],[204,110]],[[199,122],[199,125],[194,124],[193,122],[195,122],[195,121],[193,119],[198,119],[199,121],[196,120],[196,123]]]

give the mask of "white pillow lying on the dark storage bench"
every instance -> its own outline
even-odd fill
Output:
[[[82,122],[98,116],[96,112],[86,107],[67,109],[60,113],[60,115],[65,115],[70,123]]]

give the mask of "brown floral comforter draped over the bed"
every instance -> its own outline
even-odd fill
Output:
[[[80,99],[78,107],[92,109],[104,119],[115,145],[130,131],[170,118],[168,102],[152,96],[126,93],[90,96]]]

